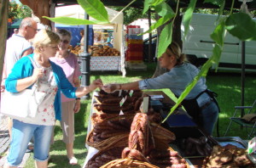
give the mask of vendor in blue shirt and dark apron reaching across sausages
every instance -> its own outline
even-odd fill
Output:
[[[198,75],[199,70],[193,65],[184,62],[185,55],[176,42],[172,42],[166,52],[159,59],[160,66],[170,71],[165,74],[124,84],[109,84],[102,87],[105,92],[114,90],[161,89],[169,88],[176,97],[179,97],[188,84]],[[206,79],[201,77],[189,95],[183,100],[183,107],[199,126],[212,135],[213,127],[218,119],[218,104],[209,96]]]

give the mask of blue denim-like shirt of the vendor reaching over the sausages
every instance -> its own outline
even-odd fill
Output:
[[[139,88],[142,90],[169,88],[177,97],[179,97],[198,73],[199,70],[193,64],[179,64],[161,76],[139,81]],[[195,98],[200,92],[203,92],[206,89],[206,78],[201,77],[185,99]],[[202,96],[206,96],[207,99],[209,98],[207,94]]]

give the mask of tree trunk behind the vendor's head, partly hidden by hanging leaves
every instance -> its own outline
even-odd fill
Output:
[[[159,16],[157,15],[156,16],[156,20],[159,19]],[[157,47],[156,47],[156,53],[158,52],[158,42],[159,42],[159,36],[160,36],[160,32],[164,29],[164,27],[169,24],[172,20],[168,21],[165,25],[161,25],[158,29],[157,29]],[[172,42],[177,42],[179,44],[179,46],[182,48],[182,39],[181,39],[181,21],[182,21],[182,16],[180,16],[179,14],[179,9],[178,9],[178,12],[177,12],[177,16],[174,20],[174,23],[173,23],[173,27],[172,27]],[[157,77],[157,76],[160,76],[164,73],[166,73],[168,70],[165,69],[165,68],[161,68],[160,67],[160,64],[159,64],[159,61],[157,61],[157,65],[156,65],[156,68],[154,70],[154,75],[152,76],[152,78],[154,77]]]

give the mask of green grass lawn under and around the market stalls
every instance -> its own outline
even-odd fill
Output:
[[[154,73],[155,64],[148,64],[148,70],[146,71],[127,71],[126,77],[123,78],[116,72],[92,72],[90,81],[96,78],[102,78],[104,83],[110,82],[129,82],[137,81],[140,79],[149,78]],[[207,86],[214,92],[218,92],[218,103],[221,109],[219,114],[219,133],[220,136],[224,136],[224,132],[229,124],[229,117],[234,112],[234,106],[241,105],[241,75],[234,72],[212,72],[207,76]],[[256,98],[255,92],[256,86],[256,73],[246,74],[245,83],[245,105],[253,104],[253,100]],[[172,92],[163,90],[173,98]],[[91,95],[91,94],[90,94]],[[175,98],[173,98],[175,99]],[[62,132],[59,122],[55,126],[55,143],[50,148],[50,161],[49,167],[52,168],[67,168],[67,167],[82,167],[87,154],[87,149],[84,146],[85,138],[87,135],[87,124],[90,114],[90,100],[82,102],[79,114],[75,115],[75,133],[76,140],[74,142],[74,154],[79,160],[79,165],[68,165],[65,144],[61,141]],[[214,130],[213,137],[216,137],[216,129]],[[232,130],[227,135],[230,137],[241,137],[246,139],[247,134],[239,126],[232,126]],[[34,167],[33,154],[26,163],[26,168]]]

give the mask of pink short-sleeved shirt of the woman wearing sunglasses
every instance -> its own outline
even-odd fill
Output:
[[[67,76],[67,80],[73,85],[73,79],[81,76],[81,71],[79,67],[78,58],[74,53],[70,53],[66,58],[59,59],[57,57],[50,58],[55,64],[61,66],[65,75]],[[61,93],[61,102],[69,102],[72,101],[72,98],[67,98],[63,93]]]

